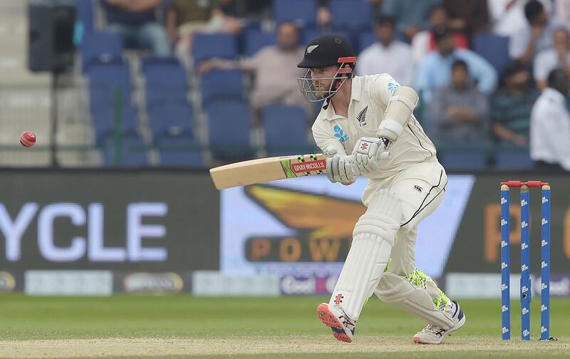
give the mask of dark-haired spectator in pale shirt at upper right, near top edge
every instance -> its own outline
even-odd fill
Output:
[[[509,55],[530,65],[537,53],[553,47],[552,34],[560,23],[549,19],[544,6],[537,0],[531,0],[524,6],[524,16],[528,24],[511,36]]]

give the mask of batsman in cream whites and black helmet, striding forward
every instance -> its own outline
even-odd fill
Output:
[[[333,336],[351,343],[366,299],[375,293],[423,319],[415,343],[439,344],[465,324],[465,314],[415,268],[418,224],[440,205],[447,175],[435,146],[413,115],[418,94],[383,73],[355,76],[356,56],[343,36],[314,38],[299,68],[301,92],[324,100],[313,136],[326,155],[328,180],[352,184],[362,174],[367,207],[331,300],[317,308]]]

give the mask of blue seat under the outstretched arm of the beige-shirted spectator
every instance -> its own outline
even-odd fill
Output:
[[[202,105],[214,100],[244,100],[242,72],[214,70],[200,77]]]

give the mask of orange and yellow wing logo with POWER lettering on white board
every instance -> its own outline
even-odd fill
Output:
[[[245,242],[246,257],[254,262],[344,261],[354,224],[366,211],[361,202],[289,188],[257,184],[244,191],[279,222],[296,230],[294,236],[250,236]]]

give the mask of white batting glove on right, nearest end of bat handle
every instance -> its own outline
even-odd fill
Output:
[[[380,159],[388,157],[390,140],[383,137],[362,137],[352,152],[353,165],[361,173],[377,172],[380,170]]]

